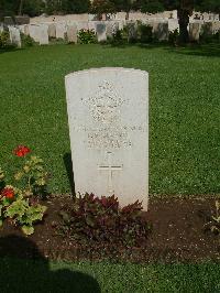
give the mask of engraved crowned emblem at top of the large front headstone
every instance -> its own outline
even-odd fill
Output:
[[[120,117],[120,106],[124,102],[113,86],[103,80],[92,97],[82,99],[89,107],[91,117],[102,123],[112,123]]]

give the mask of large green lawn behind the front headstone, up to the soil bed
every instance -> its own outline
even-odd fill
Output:
[[[70,191],[64,77],[90,67],[150,73],[150,193],[220,193],[220,45],[111,47],[52,45],[0,53],[0,164],[30,146],[52,173],[51,191]]]

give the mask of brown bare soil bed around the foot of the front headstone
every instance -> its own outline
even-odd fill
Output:
[[[151,198],[148,211],[143,216],[153,229],[148,239],[140,247],[119,251],[94,251],[77,246],[67,238],[56,235],[55,223],[64,203],[72,203],[67,196],[51,197],[44,203],[48,209],[43,224],[35,226],[34,235],[25,237],[19,228],[4,223],[0,230],[0,257],[44,259],[101,259],[120,261],[202,261],[220,259],[220,236],[205,230],[205,224],[215,211],[213,198]]]

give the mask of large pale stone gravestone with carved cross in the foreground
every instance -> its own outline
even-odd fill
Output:
[[[98,68],[66,76],[76,193],[114,194],[147,209],[148,75]]]

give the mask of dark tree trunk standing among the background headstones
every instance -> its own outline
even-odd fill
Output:
[[[179,42],[188,43],[189,42],[189,33],[187,26],[189,24],[189,11],[186,9],[177,10],[178,23],[179,23]]]

